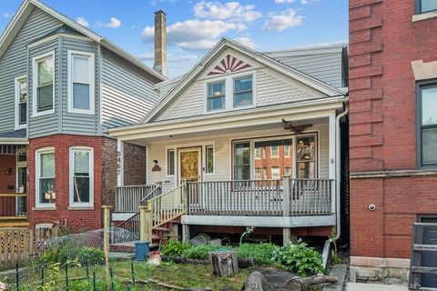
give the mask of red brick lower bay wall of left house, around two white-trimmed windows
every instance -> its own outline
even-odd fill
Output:
[[[102,146],[104,138],[79,135],[50,135],[29,140],[29,200],[30,227],[38,223],[67,220],[72,227],[85,226],[86,230],[102,227]],[[56,210],[36,210],[35,151],[47,146],[55,147]],[[69,147],[89,146],[94,149],[94,209],[68,210],[69,204]]]

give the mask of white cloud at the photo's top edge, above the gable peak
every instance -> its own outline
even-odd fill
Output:
[[[252,22],[262,16],[259,11],[255,10],[255,7],[255,5],[241,5],[239,2],[221,4],[201,1],[194,5],[193,10],[197,17],[245,23]]]

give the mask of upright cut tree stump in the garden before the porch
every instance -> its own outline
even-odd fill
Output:
[[[239,273],[239,262],[236,252],[210,252],[209,261],[212,264],[212,273],[215,276],[234,276]]]

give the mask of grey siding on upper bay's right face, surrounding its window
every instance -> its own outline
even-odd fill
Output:
[[[95,105],[96,115],[82,115],[67,112],[68,98],[68,50],[75,50],[80,52],[95,54]],[[99,94],[98,94],[98,52],[97,44],[91,41],[62,39],[62,133],[70,135],[96,135],[98,129],[98,108],[99,108]]]

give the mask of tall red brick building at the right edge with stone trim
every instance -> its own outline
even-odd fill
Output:
[[[364,276],[409,268],[412,224],[437,220],[437,1],[349,9],[351,265]]]

